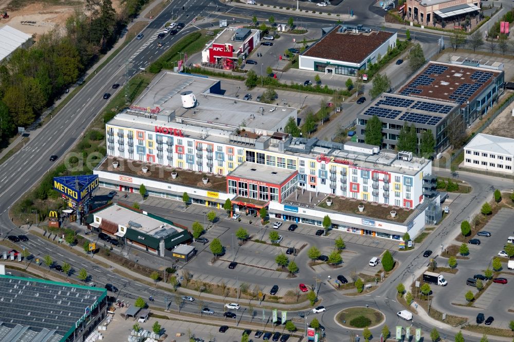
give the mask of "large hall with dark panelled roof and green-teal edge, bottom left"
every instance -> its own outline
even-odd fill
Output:
[[[107,315],[107,290],[0,275],[0,340],[83,341]]]

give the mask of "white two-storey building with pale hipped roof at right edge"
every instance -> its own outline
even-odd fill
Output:
[[[464,167],[512,174],[514,139],[477,134],[464,146]]]

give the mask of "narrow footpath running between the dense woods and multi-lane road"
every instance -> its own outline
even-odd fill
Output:
[[[156,5],[159,4],[159,1],[158,0],[155,0],[152,4],[150,4],[148,7],[146,7],[143,11],[141,11],[141,13],[131,22],[127,25],[126,29],[122,31],[122,33],[120,34],[119,38],[118,38],[118,41],[113,45],[113,47],[111,48],[111,50],[109,50],[106,54],[104,54],[102,56],[101,59],[99,59],[97,61],[97,63],[95,63],[95,65],[93,65],[92,67],[90,67],[85,73],[84,75],[82,76],[81,80],[85,80],[87,79],[87,77],[91,74],[91,73],[94,73],[97,71],[97,69],[99,68],[99,66],[105,62],[106,59],[109,58],[109,56],[111,56],[114,51],[116,51],[125,41],[125,36],[128,32],[128,29],[130,29],[135,23],[137,22],[148,22],[150,23],[151,21],[147,18],[145,18],[144,16],[150,12]],[[64,93],[56,102],[53,103],[53,105],[51,105],[50,107],[48,107],[43,113],[42,115],[36,119],[36,121],[34,121],[29,127],[27,127],[25,129],[25,132],[29,134],[29,139],[32,140],[34,139],[36,136],[38,136],[39,132],[41,132],[45,126],[40,126],[41,122],[44,121],[44,119],[50,115],[50,113],[52,112],[52,110],[54,108],[56,108],[62,101],[64,101],[68,96],[70,96],[70,94],[73,92],[73,90],[79,85],[80,82],[77,82],[77,84],[75,86],[71,86],[69,88],[69,92],[68,93]],[[57,117],[57,115],[56,115]],[[53,117],[51,118],[53,119]],[[49,124],[51,121],[49,121],[47,124]],[[2,150],[2,152],[0,153],[0,159],[2,159],[12,148],[14,148],[15,146],[17,146],[19,143],[21,143],[23,140],[23,136],[22,135],[18,135],[16,137],[16,139],[14,139],[10,144],[9,146],[7,146],[6,148],[4,148]],[[30,140],[29,140],[29,143],[30,143]]]

